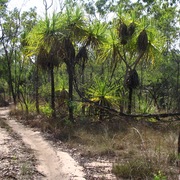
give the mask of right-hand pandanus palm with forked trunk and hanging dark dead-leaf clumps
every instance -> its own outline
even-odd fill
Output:
[[[134,14],[119,14],[111,27],[108,43],[102,48],[101,59],[112,57],[114,64],[119,60],[124,62],[125,84],[129,89],[128,113],[131,113],[132,92],[139,85],[137,65],[145,58],[153,62],[155,55],[162,50],[164,38],[148,19],[138,21]]]

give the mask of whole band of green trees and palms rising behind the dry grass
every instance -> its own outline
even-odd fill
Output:
[[[38,17],[1,1],[1,93],[14,104],[52,116],[67,105],[71,120],[100,116],[96,105],[179,111],[178,1],[43,3]]]

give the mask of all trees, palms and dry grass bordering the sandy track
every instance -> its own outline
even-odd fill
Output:
[[[178,179],[178,1],[0,2],[1,106],[119,178]]]

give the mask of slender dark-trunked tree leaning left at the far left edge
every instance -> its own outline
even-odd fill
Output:
[[[1,45],[4,63],[7,66],[8,84],[16,104],[16,93],[13,86],[12,65],[14,62],[14,54],[18,50],[18,37],[20,34],[20,12],[17,9],[6,12],[1,17]]]

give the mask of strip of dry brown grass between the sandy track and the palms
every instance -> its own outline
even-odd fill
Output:
[[[144,122],[144,121],[143,121]],[[178,180],[176,162],[179,124],[141,123],[132,119],[108,122],[37,119],[29,124],[51,132],[84,157],[114,160],[112,172],[119,178]]]

